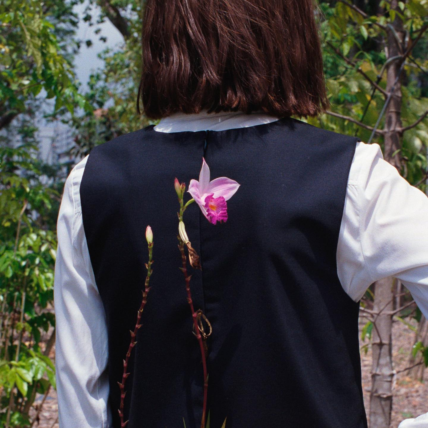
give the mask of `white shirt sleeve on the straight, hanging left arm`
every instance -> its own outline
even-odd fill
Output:
[[[59,428],[109,428],[112,423],[107,406],[107,324],[80,208],[80,179],[88,156],[65,181],[56,223],[53,300]]]

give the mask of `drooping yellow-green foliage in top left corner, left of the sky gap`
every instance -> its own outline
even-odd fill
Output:
[[[28,113],[38,95],[55,99],[54,113],[61,107],[70,113],[76,105],[91,108],[77,92],[72,65],[56,36],[59,30],[51,22],[56,20],[52,13],[59,9],[64,11],[65,6],[52,0],[0,3],[0,128]]]

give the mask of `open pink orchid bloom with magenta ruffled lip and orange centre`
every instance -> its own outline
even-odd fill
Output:
[[[227,177],[215,178],[210,181],[210,169],[202,158],[202,168],[199,172],[199,181],[190,180],[189,190],[187,190],[195,202],[201,208],[204,216],[212,224],[226,222],[227,220],[227,204],[226,201],[230,199],[238,190],[238,184],[235,180]]]

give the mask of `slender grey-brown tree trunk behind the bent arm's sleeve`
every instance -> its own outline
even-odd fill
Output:
[[[398,0],[391,1],[391,9],[400,11]],[[403,21],[398,14],[392,23],[393,31],[387,28],[387,57],[392,58],[402,54],[404,42]],[[401,45],[401,46],[400,46]],[[400,152],[392,154],[401,148],[401,83],[398,78],[401,62],[393,61],[386,69],[386,92],[391,92],[391,99],[385,112],[384,159],[401,172]],[[392,315],[388,311],[394,306],[394,279],[387,277],[375,283],[375,317],[372,342],[372,391],[370,394],[370,427],[389,428],[392,410],[392,380],[394,369],[392,366]]]

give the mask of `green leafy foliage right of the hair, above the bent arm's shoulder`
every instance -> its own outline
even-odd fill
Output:
[[[348,3],[348,4],[347,4]],[[369,5],[364,11],[351,7],[351,2],[336,1],[320,4],[320,30],[323,39],[326,84],[332,110],[373,127],[385,104],[385,95],[374,90],[370,82],[386,90],[387,30],[398,16],[403,20],[408,37],[415,39],[428,23],[428,1],[400,2],[399,10],[390,8],[388,1],[380,1],[381,12]],[[403,126],[412,125],[428,109],[428,36],[422,34],[409,58],[402,77],[401,120]],[[370,79],[370,80],[369,80]],[[424,84],[425,83],[425,84]],[[385,126],[384,118],[379,129]],[[308,122],[332,131],[357,135],[368,142],[372,131],[350,120],[324,114]],[[383,148],[383,137],[374,140]],[[402,175],[411,184],[425,190],[423,178],[427,168],[428,119],[404,132],[401,147]]]

